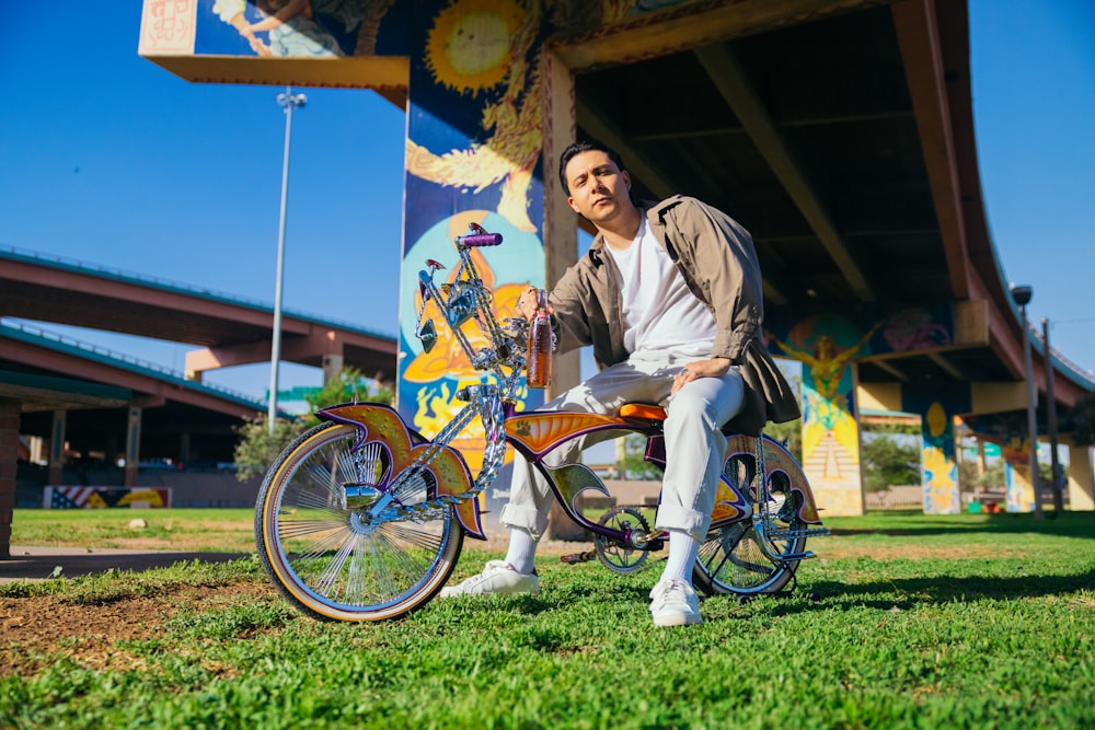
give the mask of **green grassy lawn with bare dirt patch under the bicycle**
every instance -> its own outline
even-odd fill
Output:
[[[18,510],[12,542],[134,538],[131,512],[70,514]],[[247,552],[250,518],[143,536]],[[544,554],[537,598],[380,625],[293,613],[253,558],[0,586],[0,728],[1095,727],[1095,514],[826,523],[792,594],[708,599],[685,629],[650,624],[656,559]],[[477,545],[456,578],[497,557]]]

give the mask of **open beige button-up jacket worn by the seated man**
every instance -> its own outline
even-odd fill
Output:
[[[729,427],[757,434],[768,421],[798,418],[794,392],[761,339],[764,302],[749,232],[722,211],[681,195],[644,204],[642,210],[689,289],[715,317],[712,357],[729,358],[745,380],[746,407]],[[603,246],[603,236],[593,239],[550,297],[560,324],[560,350],[592,345],[599,368],[629,356],[620,289],[606,266]]]

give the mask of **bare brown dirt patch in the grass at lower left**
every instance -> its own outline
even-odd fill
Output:
[[[162,636],[163,624],[178,611],[210,600],[253,600],[274,592],[269,584],[238,583],[91,605],[56,596],[0,598],[0,676],[34,675],[58,656],[88,669],[139,668],[143,659],[118,641]]]

